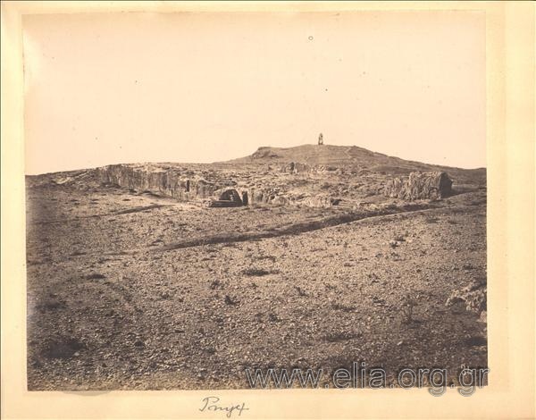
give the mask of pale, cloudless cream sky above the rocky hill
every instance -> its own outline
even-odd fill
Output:
[[[26,172],[365,147],[486,165],[471,12],[109,13],[23,21]]]

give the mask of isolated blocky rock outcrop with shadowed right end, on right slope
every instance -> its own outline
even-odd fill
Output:
[[[411,172],[409,177],[386,182],[383,193],[387,197],[405,200],[437,200],[452,194],[452,180],[447,172]]]

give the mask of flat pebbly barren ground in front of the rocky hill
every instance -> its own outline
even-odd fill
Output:
[[[29,187],[29,389],[246,388],[247,366],[365,361],[390,380],[402,367],[487,365],[486,324],[445,305],[486,277],[485,190],[341,214]],[[340,223],[306,223],[330,216]]]

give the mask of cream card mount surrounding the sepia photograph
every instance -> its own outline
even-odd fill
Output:
[[[489,385],[471,397],[413,390],[27,391],[21,16],[34,13],[483,12],[486,15]],[[3,2],[2,417],[244,418],[534,416],[534,5],[531,2]]]

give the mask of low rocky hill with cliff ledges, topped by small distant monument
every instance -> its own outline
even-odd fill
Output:
[[[436,175],[428,177],[431,183],[424,191],[407,183],[413,172]],[[251,204],[355,208],[392,204],[385,196],[406,201],[440,197],[431,188],[440,173],[448,174],[455,193],[485,188],[485,169],[423,164],[362,147],[331,145],[259,147],[253,155],[214,164],[112,164],[29,177],[28,185],[113,185],[191,202],[218,199],[222,189],[236,189]]]

